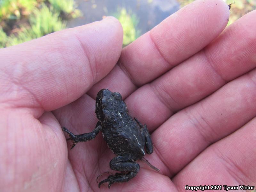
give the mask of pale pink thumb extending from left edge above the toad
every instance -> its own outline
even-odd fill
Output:
[[[123,30],[113,17],[0,49],[0,105],[60,108],[115,66]]]

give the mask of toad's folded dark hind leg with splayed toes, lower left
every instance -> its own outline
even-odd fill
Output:
[[[116,182],[123,183],[123,182],[129,181],[130,179],[135,177],[135,175],[140,170],[140,165],[135,162],[132,162],[132,161],[133,160],[130,156],[114,157],[109,163],[110,168],[112,170],[120,171],[122,173],[116,173],[115,175],[109,175],[107,179],[102,180],[99,183],[99,188],[102,183],[108,182],[108,188],[110,188],[110,186],[113,183],[116,183]],[[124,173],[124,172],[128,172],[128,173]]]

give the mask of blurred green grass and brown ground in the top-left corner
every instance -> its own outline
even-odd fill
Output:
[[[0,0],[0,48],[66,28],[81,15],[75,7],[74,0]]]

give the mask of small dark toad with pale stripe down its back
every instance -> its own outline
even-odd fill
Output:
[[[65,127],[62,127],[62,130],[68,133],[70,138],[67,140],[73,142],[72,148],[76,143],[92,140],[100,131],[102,132],[108,147],[116,154],[109,163],[110,168],[121,173],[109,175],[99,183],[99,187],[102,183],[108,182],[108,188],[110,188],[115,182],[123,183],[135,177],[140,170],[140,165],[136,163],[138,159],[159,171],[143,157],[145,149],[146,153],[153,153],[148,128],[146,124],[143,126],[136,118],[129,116],[120,93],[111,92],[108,89],[100,90],[96,98],[95,113],[99,121],[92,132],[74,135]]]

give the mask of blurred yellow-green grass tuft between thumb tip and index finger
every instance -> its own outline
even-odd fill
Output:
[[[126,9],[122,8],[114,16],[120,21],[123,27],[123,46],[130,44],[140,36],[140,30],[136,30],[139,19],[134,13],[128,13]]]

